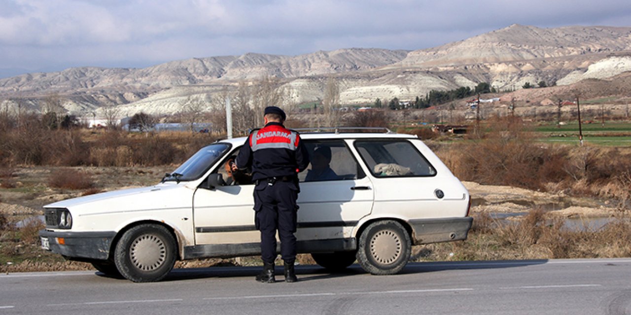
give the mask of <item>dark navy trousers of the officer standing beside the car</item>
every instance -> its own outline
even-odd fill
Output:
[[[276,231],[280,238],[280,253],[285,263],[296,260],[298,184],[276,181],[270,185],[262,180],[254,188],[254,222],[261,231],[261,259],[273,263],[276,259]]]

